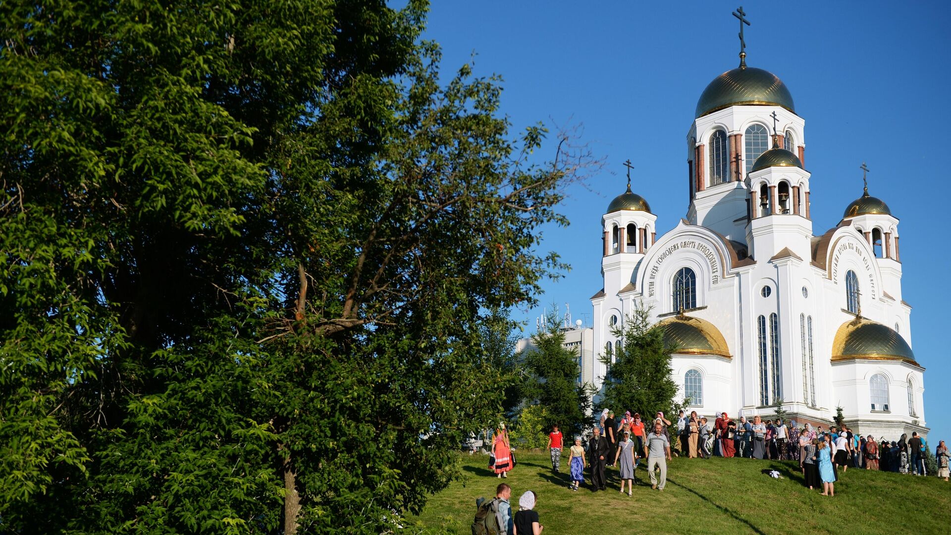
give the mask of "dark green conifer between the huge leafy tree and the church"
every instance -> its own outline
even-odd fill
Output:
[[[522,398],[545,407],[545,428],[557,425],[565,435],[580,433],[591,413],[591,386],[578,381],[578,349],[565,347],[557,307],[532,335],[532,346],[523,351],[522,359],[528,372]]]

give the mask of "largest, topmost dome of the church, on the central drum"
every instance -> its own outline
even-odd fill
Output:
[[[704,89],[697,102],[697,117],[729,106],[782,106],[796,112],[786,84],[775,74],[752,67],[728,70]]]

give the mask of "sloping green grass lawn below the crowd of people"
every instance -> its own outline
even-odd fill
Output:
[[[618,492],[617,470],[611,467],[607,491],[592,492],[582,486],[573,492],[568,488],[566,460],[567,455],[562,457],[562,473],[554,475],[548,455],[521,453],[518,466],[505,480],[513,488],[513,511],[522,492],[538,494],[535,510],[545,526],[544,535],[614,530],[678,535],[951,533],[951,483],[935,477],[849,468],[840,472],[836,495],[830,498],[803,486],[794,462],[675,457],[668,463],[663,492],[650,488],[642,465],[637,470],[638,485],[629,497]],[[463,480],[430,499],[417,517],[423,525],[470,533],[476,497],[495,495],[499,480],[486,467],[486,456],[464,456],[462,464]],[[784,479],[761,474],[767,467],[778,470]]]

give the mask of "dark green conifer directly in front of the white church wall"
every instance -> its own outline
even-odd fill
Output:
[[[676,347],[664,346],[664,333],[650,322],[650,308],[635,307],[612,333],[618,343],[600,359],[608,367],[601,402],[604,407],[631,410],[650,417],[658,411],[676,414],[686,400],[676,401],[670,355]]]

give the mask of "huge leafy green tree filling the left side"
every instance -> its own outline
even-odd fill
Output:
[[[590,155],[424,11],[0,4],[6,530],[379,532],[456,477]]]

